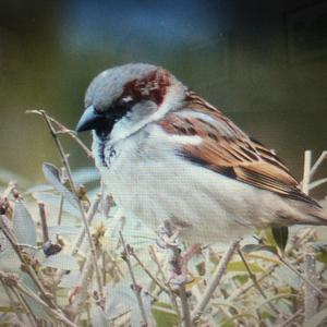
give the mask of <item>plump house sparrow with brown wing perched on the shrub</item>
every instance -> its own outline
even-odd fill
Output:
[[[274,152],[167,70],[131,63],[96,76],[76,131],[93,130],[108,193],[148,226],[169,221],[192,243],[271,225],[326,225]]]

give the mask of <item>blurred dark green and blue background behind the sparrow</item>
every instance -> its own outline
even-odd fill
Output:
[[[304,149],[327,147],[326,1],[3,0],[0,167],[41,181],[41,162],[58,164],[57,149],[25,110],[74,128],[90,80],[126,62],[169,69],[298,178]],[[65,145],[74,168],[90,165]]]

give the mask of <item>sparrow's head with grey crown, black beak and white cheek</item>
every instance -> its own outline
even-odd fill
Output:
[[[123,138],[170,111],[184,89],[172,74],[156,65],[130,63],[108,69],[88,86],[76,131],[93,130],[101,140]]]

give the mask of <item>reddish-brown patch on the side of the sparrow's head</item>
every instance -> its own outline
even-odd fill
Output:
[[[144,76],[142,80],[133,80],[124,85],[121,98],[131,96],[134,102],[141,100],[154,101],[161,105],[167,94],[167,88],[171,85],[171,75],[168,71],[158,68]]]

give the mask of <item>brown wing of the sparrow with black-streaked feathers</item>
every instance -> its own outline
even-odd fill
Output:
[[[317,205],[278,157],[250,138],[232,121],[194,93],[184,108],[159,122],[170,134],[198,135],[201,145],[184,145],[180,155],[229,178],[279,195]]]

